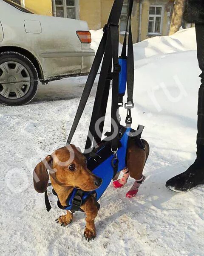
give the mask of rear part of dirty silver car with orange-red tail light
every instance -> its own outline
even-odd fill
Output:
[[[36,15],[0,0],[0,103],[30,102],[39,80],[87,74],[95,54],[90,43],[85,21]]]

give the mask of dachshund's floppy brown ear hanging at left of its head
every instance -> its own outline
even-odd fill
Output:
[[[40,162],[33,172],[34,188],[38,193],[44,193],[48,187],[48,166],[52,162],[52,157],[48,155],[42,162]]]

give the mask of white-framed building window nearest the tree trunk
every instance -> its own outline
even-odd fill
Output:
[[[162,6],[150,6],[148,34],[161,34]]]

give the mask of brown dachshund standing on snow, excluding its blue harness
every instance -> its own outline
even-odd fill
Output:
[[[129,169],[130,177],[134,179],[141,177],[149,155],[149,145],[144,140],[143,143],[145,150],[139,148],[134,142],[130,142],[127,150],[127,168]],[[66,206],[66,199],[74,188],[79,188],[83,191],[93,191],[102,183],[101,178],[96,177],[87,169],[86,158],[74,145],[59,148],[35,167],[33,173],[34,188],[39,193],[43,193],[47,189],[49,180],[48,169],[51,170],[50,180],[62,206]],[[91,196],[82,205],[81,209],[86,214],[84,236],[89,241],[96,237],[94,221],[98,214],[98,208],[94,196]],[[72,219],[73,214],[67,211],[67,214],[60,216],[57,222],[66,226],[71,223]]]

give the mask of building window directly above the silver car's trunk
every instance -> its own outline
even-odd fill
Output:
[[[77,19],[77,0],[55,0],[56,16]]]

